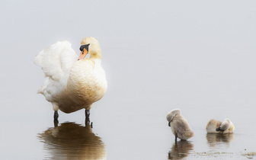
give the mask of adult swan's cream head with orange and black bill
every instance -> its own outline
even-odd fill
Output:
[[[94,37],[84,38],[81,41],[80,51],[81,54],[78,60],[85,59],[88,53],[90,54],[90,58],[101,59],[101,46]]]

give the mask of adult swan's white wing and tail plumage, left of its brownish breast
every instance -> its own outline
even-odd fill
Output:
[[[45,81],[38,92],[47,101],[55,101],[54,98],[65,89],[69,70],[77,59],[68,41],[54,43],[36,56],[34,63],[41,66],[45,74]]]

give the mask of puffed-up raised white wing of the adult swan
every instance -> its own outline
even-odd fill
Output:
[[[42,67],[46,77],[59,81],[69,72],[77,59],[78,56],[72,49],[71,43],[61,41],[42,50],[34,59],[34,63]]]

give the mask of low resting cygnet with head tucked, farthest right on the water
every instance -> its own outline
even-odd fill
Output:
[[[234,130],[235,126],[229,118],[226,118],[223,122],[212,119],[206,125],[207,133],[233,133]]]

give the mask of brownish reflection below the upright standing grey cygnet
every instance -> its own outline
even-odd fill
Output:
[[[194,149],[194,145],[185,140],[178,141],[171,147],[171,151],[168,152],[168,159],[182,159],[186,158],[190,154],[190,151]]]

